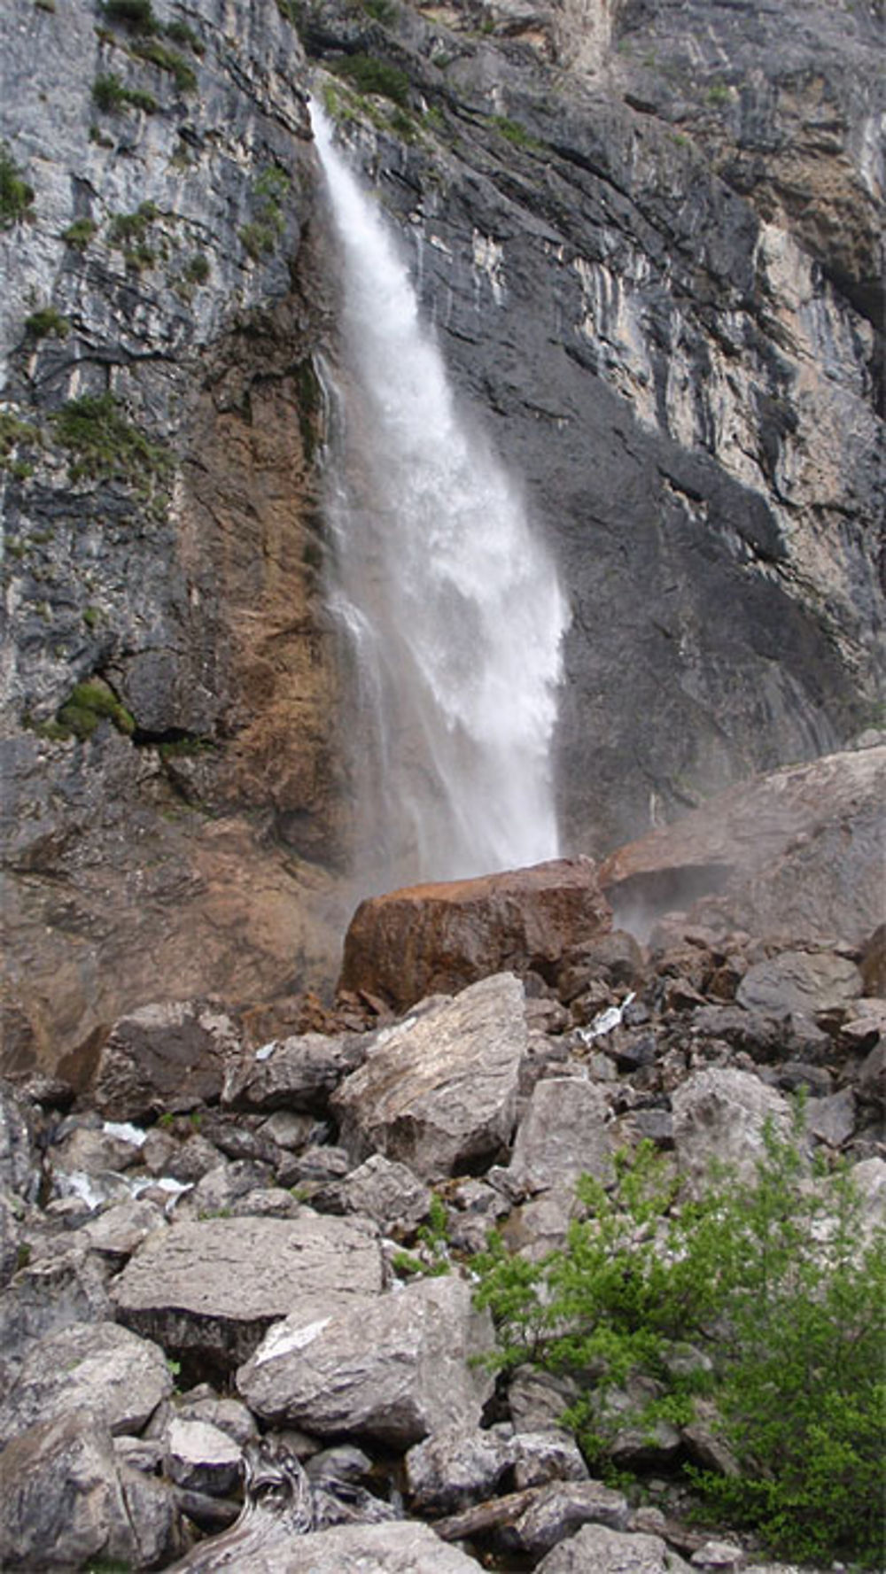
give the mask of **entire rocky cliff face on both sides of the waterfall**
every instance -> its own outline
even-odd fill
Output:
[[[568,850],[881,704],[877,9],[8,9],[11,1064],[329,971],[308,79],[559,554]]]

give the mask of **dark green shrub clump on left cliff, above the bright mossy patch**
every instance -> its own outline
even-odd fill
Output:
[[[148,494],[168,477],[172,460],[123,416],[113,394],[83,394],[52,417],[55,436],[72,455],[71,478],[140,483]]]

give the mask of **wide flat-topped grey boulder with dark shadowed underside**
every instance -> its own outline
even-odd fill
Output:
[[[359,1218],[211,1218],[151,1236],[113,1281],[118,1321],[167,1350],[222,1368],[247,1360],[269,1324],[313,1295],[378,1295],[381,1247]]]

